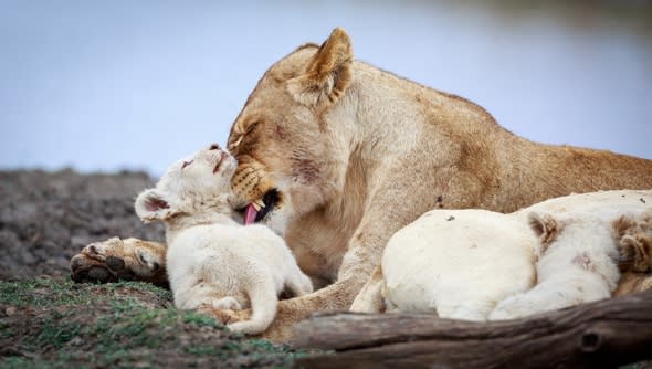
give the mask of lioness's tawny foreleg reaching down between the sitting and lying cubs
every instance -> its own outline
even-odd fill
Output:
[[[417,168],[417,166],[412,167]],[[374,191],[375,196],[369,200],[369,207],[349,240],[337,282],[309,295],[281,301],[276,318],[263,337],[285,340],[293,336],[294,324],[307,318],[313,312],[348,309],[374,270],[380,264],[380,257],[389,238],[428,210],[435,208],[442,197],[441,193],[448,198],[451,190],[459,189],[458,181],[452,179],[453,176],[445,177],[449,179],[446,183],[451,186],[429,187],[423,182],[414,181],[414,176],[407,172],[406,168],[411,167],[404,166],[400,168],[401,170],[391,171],[397,177],[387,178]],[[438,177],[435,172],[429,176]],[[467,183],[467,180],[462,183]],[[416,197],[421,201],[404,202],[404,199]],[[450,197],[461,199],[460,196],[451,194]],[[458,200],[454,205],[470,208],[475,203]]]

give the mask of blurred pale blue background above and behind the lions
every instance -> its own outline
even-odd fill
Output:
[[[517,135],[652,158],[652,1],[0,0],[0,169],[160,176],[338,25]]]

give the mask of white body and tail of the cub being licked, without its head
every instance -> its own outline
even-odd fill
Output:
[[[264,331],[284,288],[295,296],[313,291],[283,239],[264,225],[224,222],[189,228],[168,245],[167,260],[178,308],[253,308],[251,320],[229,326],[234,331]]]

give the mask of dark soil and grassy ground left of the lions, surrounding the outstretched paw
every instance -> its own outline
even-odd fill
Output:
[[[177,310],[154,285],[71,281],[91,242],[164,240],[134,213],[151,184],[143,172],[0,172],[0,367],[284,367],[307,355]]]

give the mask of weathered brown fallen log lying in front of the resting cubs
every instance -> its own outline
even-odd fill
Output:
[[[297,346],[335,350],[305,368],[609,368],[652,359],[652,291],[490,323],[323,313],[296,330]]]

